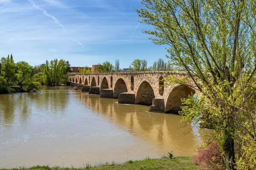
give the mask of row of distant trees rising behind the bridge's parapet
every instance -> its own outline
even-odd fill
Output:
[[[97,68],[97,72],[111,72],[111,71],[119,71],[120,68],[120,62],[119,59],[116,59],[115,65],[113,65],[109,61],[105,61],[102,63],[99,63]],[[171,66],[168,62],[164,62],[163,59],[158,59],[158,61],[155,61],[153,63],[153,66],[148,67],[148,62],[145,59],[134,59],[134,61],[129,66],[129,71],[165,71],[165,70],[172,70]],[[91,69],[87,68],[79,68],[79,73],[91,73]]]

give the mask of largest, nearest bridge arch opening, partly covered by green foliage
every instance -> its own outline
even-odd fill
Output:
[[[165,112],[178,113],[178,111],[181,111],[182,103],[180,99],[187,99],[191,94],[195,94],[195,90],[186,85],[178,85],[173,88],[167,98]]]

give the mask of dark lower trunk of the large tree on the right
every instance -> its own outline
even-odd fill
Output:
[[[233,118],[229,118],[227,128],[224,130],[224,146],[223,150],[225,153],[226,166],[228,170],[235,170],[235,150],[234,150],[234,123]]]

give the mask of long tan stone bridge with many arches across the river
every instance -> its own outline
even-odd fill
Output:
[[[67,85],[102,98],[118,99],[122,104],[150,105],[151,112],[178,113],[182,106],[180,99],[196,91],[185,85],[166,85],[163,79],[170,75],[182,78],[186,72],[75,74],[68,77]]]

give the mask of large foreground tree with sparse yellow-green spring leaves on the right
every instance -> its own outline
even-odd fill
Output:
[[[216,134],[208,137],[221,141],[227,168],[248,164],[238,161],[248,160],[246,155],[241,159],[247,148],[235,153],[234,143],[255,146],[256,141],[255,2],[142,0],[142,4],[144,8],[137,9],[142,23],[154,26],[144,32],[155,44],[169,45],[170,63],[187,72],[186,78],[169,77],[168,82],[201,94],[200,99],[191,95],[182,100],[183,122],[206,117]]]

